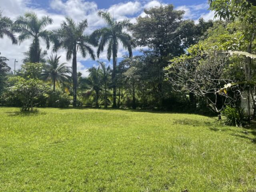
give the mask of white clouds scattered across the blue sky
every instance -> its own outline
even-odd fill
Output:
[[[150,8],[155,6],[160,6],[162,3],[160,0],[130,0],[126,3],[113,4],[109,8],[104,9],[103,11],[109,11],[112,13],[114,11],[114,18],[116,20],[122,19],[130,19],[131,22],[136,22],[136,16],[145,16],[144,8]],[[32,4],[32,0],[0,0],[0,9],[3,10],[4,16],[9,16],[13,20],[15,20],[16,16],[23,15],[26,10],[33,10],[37,13],[38,17],[42,17],[44,15],[49,15],[54,23],[52,25],[47,26],[48,30],[52,30],[60,27],[60,23],[64,20],[64,16],[70,16],[75,20],[75,22],[79,22],[82,19],[87,19],[88,21],[88,29],[86,29],[86,33],[90,34],[93,30],[104,26],[104,21],[97,16],[98,6],[93,1],[88,0],[50,0],[48,8],[35,8]],[[162,4],[166,5],[166,4]],[[38,7],[38,6],[37,6]],[[184,8],[187,13],[186,17],[193,17],[193,19],[198,19],[200,16],[204,17],[206,20],[208,18],[212,18],[212,13],[203,13],[203,14],[194,14],[194,12],[202,12],[202,10],[206,9],[205,4],[199,4],[195,6],[182,6],[179,8]],[[12,45],[11,41],[4,37],[4,39],[0,39],[0,52],[1,56],[6,56],[9,59],[9,66],[14,68],[14,59],[18,60],[16,63],[16,68],[19,68],[22,64],[22,59],[24,58],[23,52],[28,50],[28,46],[31,44],[31,40],[26,40],[19,45]],[[46,45],[44,42],[41,42],[42,49],[46,49]],[[94,48],[96,50],[96,48]],[[50,55],[51,50],[48,50],[48,54]],[[118,50],[118,57],[122,57],[127,54],[126,50],[124,50],[120,44]],[[66,61],[66,54],[64,50],[60,50],[58,55],[61,56],[60,61],[66,62],[68,66],[72,66],[72,61]],[[82,63],[84,61],[89,61],[90,57],[82,58],[82,56],[78,53],[77,61],[78,61],[78,71],[82,72],[83,76],[88,75],[87,67]],[[106,50],[100,54],[100,60],[106,60]],[[91,63],[91,62],[90,62]],[[95,62],[96,63],[96,62]]]

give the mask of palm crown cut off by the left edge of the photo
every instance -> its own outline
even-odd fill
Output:
[[[0,10],[0,38],[2,39],[6,35],[12,40],[12,44],[17,44],[17,39],[13,34],[12,24],[12,20],[9,17],[2,16],[2,11]]]

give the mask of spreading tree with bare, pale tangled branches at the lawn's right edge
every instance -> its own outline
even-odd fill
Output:
[[[225,105],[238,106],[244,85],[234,84],[236,78],[225,69],[229,56],[225,53],[208,52],[196,56],[181,56],[166,68],[166,78],[177,92],[193,93],[204,99],[208,107],[217,113]],[[225,86],[233,84],[229,89]]]

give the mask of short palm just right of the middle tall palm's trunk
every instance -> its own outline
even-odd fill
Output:
[[[102,90],[102,80],[103,80],[103,73],[100,69],[92,67],[88,69],[90,73],[88,77],[82,78],[81,83],[83,84],[82,89],[90,89],[90,92],[95,91],[96,93],[96,107],[99,107],[98,99],[99,99],[99,92]]]

